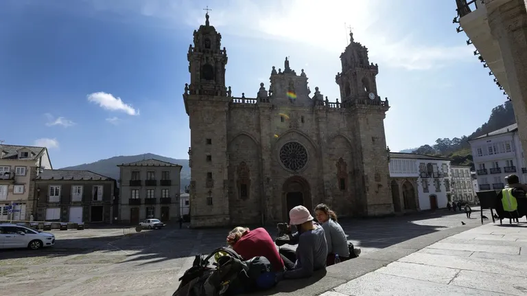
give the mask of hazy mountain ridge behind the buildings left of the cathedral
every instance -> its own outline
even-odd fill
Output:
[[[62,170],[91,170],[97,174],[110,177],[119,180],[119,168],[117,165],[122,163],[130,163],[135,161],[141,161],[143,159],[157,159],[160,161],[166,161],[169,163],[176,163],[183,166],[181,169],[181,190],[185,189],[186,185],[190,184],[190,168],[188,159],[173,159],[170,157],[163,157],[161,155],[155,155],[152,153],[145,153],[141,155],[130,155],[130,156],[116,156],[109,159],[101,159],[93,163],[84,163],[79,166],[69,166],[62,168]]]

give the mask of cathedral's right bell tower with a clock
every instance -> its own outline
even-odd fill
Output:
[[[335,80],[342,105],[349,110],[348,120],[353,123],[349,133],[356,139],[355,150],[360,151],[361,161],[353,173],[362,189],[357,192],[358,206],[367,216],[382,216],[394,211],[384,133],[384,118],[390,107],[388,98],[383,101],[377,95],[379,67],[369,61],[368,49],[355,42],[352,32],[349,36],[351,43],[340,55],[342,73],[337,73]]]

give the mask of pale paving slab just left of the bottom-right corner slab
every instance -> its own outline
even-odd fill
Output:
[[[375,272],[399,277],[408,277],[415,280],[436,282],[439,284],[448,284],[456,276],[459,270],[441,266],[393,262]]]

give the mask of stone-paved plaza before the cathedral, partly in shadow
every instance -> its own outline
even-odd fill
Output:
[[[461,221],[466,225],[462,226]],[[255,295],[320,295],[350,280],[360,280],[361,276],[439,240],[481,225],[477,218],[468,220],[464,214],[443,210],[343,220],[341,224],[349,240],[362,249],[360,258],[330,266],[325,276],[284,281],[271,291]],[[496,229],[503,231],[506,227]],[[57,238],[55,247],[36,252],[0,251],[0,295],[172,295],[178,278],[191,266],[192,256],[223,246],[228,231],[178,229],[177,225],[132,236],[123,236],[122,229],[111,228],[53,231]],[[274,227],[268,231],[276,236]],[[340,288],[336,288],[339,293],[351,294]],[[359,292],[352,295],[361,295]],[[364,294],[371,295],[368,291]]]

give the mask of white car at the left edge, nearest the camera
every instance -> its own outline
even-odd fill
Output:
[[[0,224],[0,249],[38,250],[55,244],[55,236],[21,225]]]

